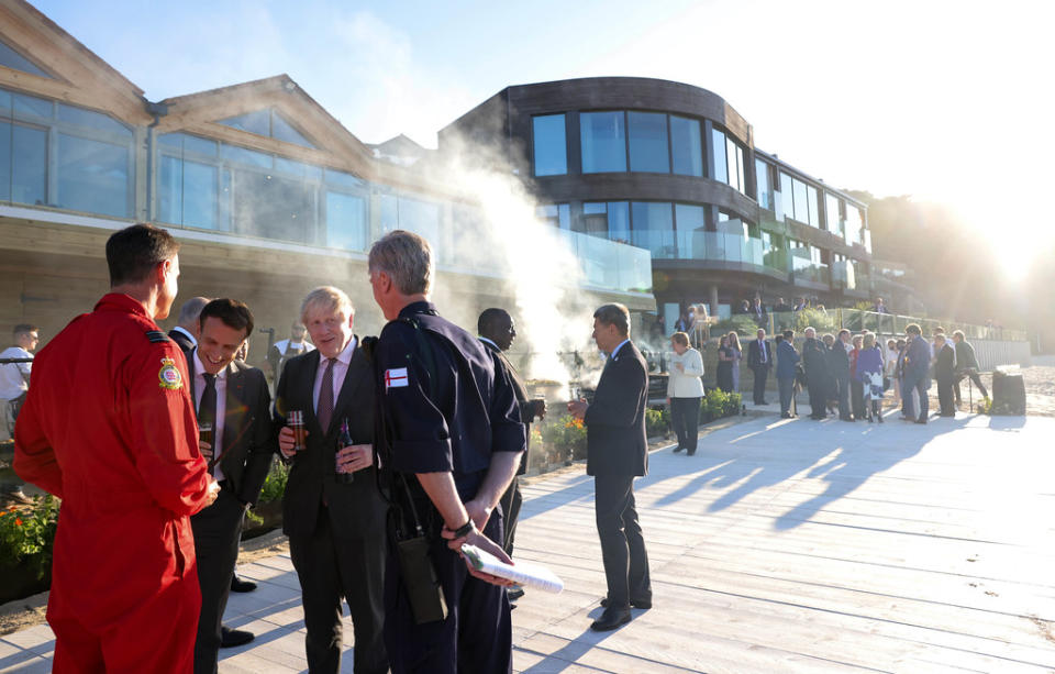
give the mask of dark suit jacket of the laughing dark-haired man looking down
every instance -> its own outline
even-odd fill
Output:
[[[190,399],[195,400],[192,352],[185,352],[185,355],[190,375]],[[271,458],[278,450],[277,438],[271,432],[271,395],[264,373],[242,361],[227,365],[226,379],[220,469],[240,501],[256,505]]]

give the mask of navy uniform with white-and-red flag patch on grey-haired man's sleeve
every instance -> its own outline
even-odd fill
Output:
[[[393,511],[406,518],[406,501],[413,499],[448,610],[445,620],[414,623],[398,555],[390,548],[385,641],[392,672],[511,672],[506,590],[470,576],[465,562],[447,548],[440,535],[443,519],[414,474],[451,472],[462,501],[471,500],[492,452],[525,448],[512,384],[504,375],[496,376],[491,356],[475,336],[440,318],[430,302],[409,305],[385,325],[374,362],[379,426],[375,442],[397,506]],[[484,529],[499,545],[502,519],[496,508]]]

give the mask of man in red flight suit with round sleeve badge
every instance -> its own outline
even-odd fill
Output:
[[[190,516],[219,485],[198,450],[187,366],[154,319],[176,298],[179,244],[110,236],[110,294],[33,364],[14,469],[63,499],[47,621],[54,672],[190,672],[201,594]]]

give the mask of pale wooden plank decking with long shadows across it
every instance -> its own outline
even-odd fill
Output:
[[[604,594],[593,482],[525,489],[515,556],[560,595],[513,611],[514,670],[1055,672],[1055,419],[960,415],[925,427],[748,419],[637,482],[654,608],[589,630]],[[229,625],[257,633],[221,672],[302,672],[288,556],[245,565]],[[351,627],[345,630],[351,645]],[[46,626],[0,640],[0,671],[47,671]],[[352,650],[351,648],[348,649]],[[352,654],[345,658],[352,671]]]

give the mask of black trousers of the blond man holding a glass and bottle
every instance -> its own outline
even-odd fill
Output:
[[[336,674],[341,670],[343,598],[355,630],[355,674],[382,674],[388,671],[382,632],[385,539],[338,538],[330,523],[330,518],[337,516],[355,513],[331,512],[320,504],[314,532],[289,538],[289,556],[300,578],[304,605],[308,671]]]

